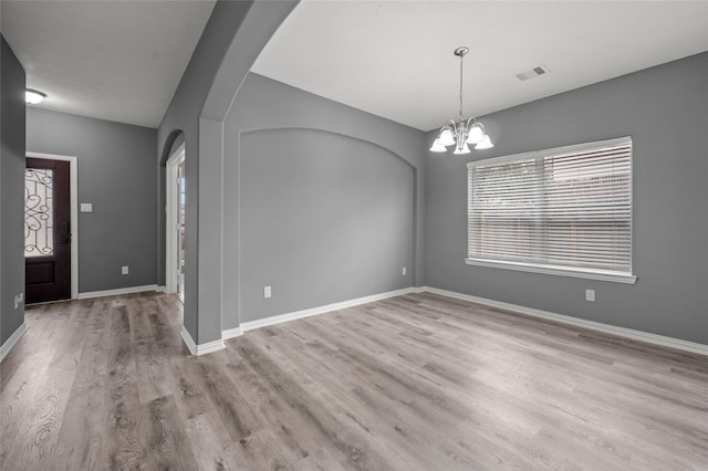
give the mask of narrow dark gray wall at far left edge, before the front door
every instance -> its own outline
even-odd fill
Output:
[[[24,70],[0,35],[0,345],[24,322]]]

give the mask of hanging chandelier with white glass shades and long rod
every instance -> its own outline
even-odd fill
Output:
[[[447,147],[455,146],[452,154],[469,154],[468,144],[475,145],[475,149],[489,149],[494,147],[485,132],[485,125],[477,118],[465,119],[462,117],[462,59],[469,52],[469,48],[461,46],[455,50],[455,55],[460,57],[460,116],[457,122],[448,119],[440,128],[438,137],[433,142],[430,150],[434,153],[447,151]]]

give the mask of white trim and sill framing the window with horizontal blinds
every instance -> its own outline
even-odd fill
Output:
[[[586,149],[594,149],[596,147],[602,147],[602,146],[621,145],[626,143],[627,140],[632,143],[632,137],[626,136],[626,137],[618,137],[614,139],[596,140],[593,143],[554,147],[551,149],[533,150],[529,153],[513,154],[513,155],[501,156],[501,157],[492,157],[488,159],[470,161],[467,164],[467,168],[471,169],[473,167],[478,167],[481,165],[485,165],[485,166],[500,165],[509,161],[531,159],[539,156],[545,156],[549,154],[577,153]],[[632,166],[634,167],[634,158],[632,158]],[[632,172],[634,175],[634,169]],[[634,177],[632,179],[634,180]],[[632,185],[631,182],[629,198],[632,199],[634,199],[633,187],[634,185]],[[469,233],[467,234],[467,238],[469,243]],[[489,259],[475,259],[469,257],[465,259],[465,263],[468,265],[475,265],[475,266],[514,270],[520,272],[542,273],[542,274],[559,275],[559,276],[580,278],[585,280],[608,281],[608,282],[615,282],[615,283],[635,284],[637,281],[637,276],[634,274],[634,270],[632,270],[632,273],[625,273],[625,272],[617,272],[617,271],[611,271],[611,270],[597,270],[597,269],[590,269],[590,268],[573,268],[573,266],[564,266],[564,265],[524,263],[524,262],[512,262],[512,261],[489,260]],[[631,260],[631,265],[632,266],[634,265],[632,260]]]

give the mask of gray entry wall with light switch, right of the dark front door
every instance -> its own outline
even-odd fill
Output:
[[[79,292],[157,283],[157,130],[29,107],[27,150],[77,158]],[[121,274],[128,265],[129,273]]]

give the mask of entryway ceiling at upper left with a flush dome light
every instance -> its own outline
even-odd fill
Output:
[[[2,35],[46,109],[157,127],[214,0],[2,0]]]

